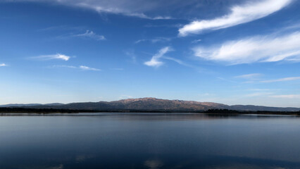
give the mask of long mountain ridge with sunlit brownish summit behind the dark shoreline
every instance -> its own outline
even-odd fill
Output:
[[[6,105],[7,106],[7,105]],[[4,107],[4,106],[1,106]],[[209,109],[229,109],[236,111],[300,111],[300,108],[280,108],[253,105],[234,105],[217,104],[211,102],[182,101],[156,99],[151,97],[140,99],[123,99],[119,101],[99,101],[72,104],[11,104],[8,107],[25,108],[54,108],[72,110],[96,110],[96,111],[207,111]]]

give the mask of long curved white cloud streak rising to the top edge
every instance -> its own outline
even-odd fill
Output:
[[[201,33],[204,30],[219,30],[242,23],[249,23],[268,16],[289,5],[292,0],[263,0],[254,1],[242,6],[233,6],[231,13],[213,20],[196,20],[180,28],[179,35],[185,37],[189,34]]]

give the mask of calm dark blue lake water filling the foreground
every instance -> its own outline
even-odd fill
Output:
[[[0,168],[300,168],[300,118],[0,116]]]

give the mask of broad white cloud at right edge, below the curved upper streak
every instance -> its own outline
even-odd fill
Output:
[[[197,46],[194,55],[230,64],[293,61],[300,58],[300,32],[256,36],[212,47]]]

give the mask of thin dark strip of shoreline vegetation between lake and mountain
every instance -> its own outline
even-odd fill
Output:
[[[32,113],[32,114],[51,114],[51,113],[206,113],[206,114],[258,114],[258,115],[300,115],[300,111],[235,111],[228,109],[209,109],[207,111],[165,111],[165,110],[74,110],[74,109],[55,109],[55,108],[0,108],[0,113]]]

